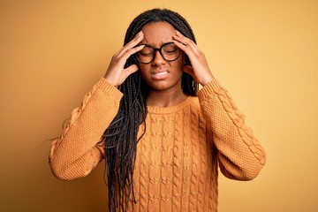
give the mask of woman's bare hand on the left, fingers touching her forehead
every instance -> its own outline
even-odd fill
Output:
[[[125,79],[133,72],[137,72],[138,66],[132,64],[124,68],[126,60],[137,51],[144,48],[144,45],[137,46],[143,39],[144,34],[142,31],[136,34],[131,42],[128,42],[122,49],[120,49],[110,61],[110,65],[105,73],[104,79],[110,82],[114,87],[120,86]]]

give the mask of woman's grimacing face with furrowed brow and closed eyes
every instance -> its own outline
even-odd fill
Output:
[[[176,34],[176,29],[168,22],[155,22],[142,27],[142,32],[144,34],[144,39],[140,44],[148,44],[153,48],[159,49],[163,44],[173,41],[172,35]],[[174,50],[173,47],[172,50]],[[167,49],[167,52],[167,54],[170,54],[169,48]],[[181,90],[183,52],[181,52],[176,60],[168,62],[163,58],[159,51],[155,51],[152,62],[148,64],[140,63],[140,71],[142,78],[148,84],[150,89],[156,91]]]

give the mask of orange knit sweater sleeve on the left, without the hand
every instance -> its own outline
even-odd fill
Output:
[[[80,107],[72,110],[71,120],[51,144],[49,166],[60,179],[87,176],[103,158],[97,146],[102,134],[117,114],[123,94],[105,79],[87,93]]]

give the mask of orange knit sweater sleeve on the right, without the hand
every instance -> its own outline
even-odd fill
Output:
[[[213,79],[201,88],[198,97],[213,133],[223,175],[238,180],[255,178],[265,164],[266,154],[231,95]]]

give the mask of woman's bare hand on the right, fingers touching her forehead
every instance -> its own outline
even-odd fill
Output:
[[[207,85],[214,77],[208,67],[208,61],[203,52],[192,40],[180,34],[178,31],[177,34],[172,37],[173,42],[175,42],[178,48],[183,50],[190,59],[192,66],[185,65],[184,72],[190,74],[193,79],[202,86]]]

